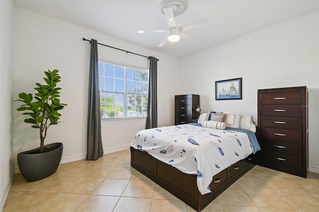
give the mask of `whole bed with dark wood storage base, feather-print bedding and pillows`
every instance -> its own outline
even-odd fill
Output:
[[[221,122],[212,118],[213,113],[205,114],[200,123],[142,130],[130,148],[133,168],[196,211],[253,168],[254,153],[260,150],[256,128],[239,128],[240,124],[225,128],[227,115],[222,126],[209,125]],[[243,117],[237,115],[240,123]],[[228,116],[228,122],[235,121]]]

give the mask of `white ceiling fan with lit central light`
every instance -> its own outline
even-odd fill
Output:
[[[207,24],[211,21],[210,18],[199,20],[196,22],[188,23],[182,26],[177,27],[175,24],[175,16],[178,16],[185,12],[187,9],[186,0],[163,0],[160,3],[160,10],[165,15],[166,21],[168,23],[168,30],[152,30],[151,32],[166,32],[167,35],[160,41],[158,47],[165,45],[167,41],[176,42],[180,38],[192,42],[192,39],[184,33],[184,31],[198,27],[204,24]],[[145,30],[138,30],[138,33],[145,33]]]

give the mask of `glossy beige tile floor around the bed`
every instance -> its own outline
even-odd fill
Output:
[[[130,166],[130,151],[61,164],[26,182],[14,176],[3,212],[194,212]],[[255,166],[202,212],[319,212],[319,174],[300,178]]]

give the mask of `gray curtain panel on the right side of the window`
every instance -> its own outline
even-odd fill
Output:
[[[146,129],[158,126],[158,92],[157,92],[157,75],[158,75],[158,59],[149,57],[150,59],[150,78],[149,78],[149,97],[148,97],[148,115],[146,118]]]

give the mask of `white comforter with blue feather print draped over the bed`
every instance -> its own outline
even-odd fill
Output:
[[[184,173],[196,174],[202,195],[210,192],[214,175],[253,152],[246,133],[190,124],[142,130],[131,146]]]

